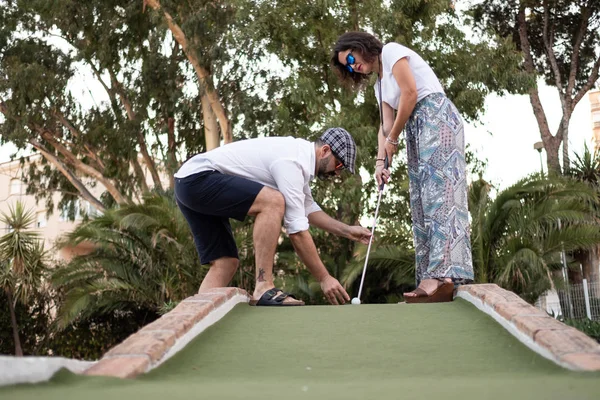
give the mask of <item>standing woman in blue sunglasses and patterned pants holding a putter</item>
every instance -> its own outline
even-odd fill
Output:
[[[455,284],[473,280],[467,210],[464,131],[458,110],[429,65],[398,43],[348,32],[338,38],[331,63],[355,88],[377,74],[375,97],[381,126],[375,161],[377,183],[387,182],[406,132],[410,207],[418,287],[408,303],[452,301]],[[395,113],[395,117],[394,117]]]

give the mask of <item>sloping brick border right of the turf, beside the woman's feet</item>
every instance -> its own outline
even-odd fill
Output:
[[[492,316],[517,339],[558,365],[600,371],[600,344],[496,284],[463,285],[456,297]]]

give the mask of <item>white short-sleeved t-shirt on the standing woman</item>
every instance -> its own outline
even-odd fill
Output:
[[[381,95],[383,101],[389,104],[394,110],[398,109],[401,93],[396,78],[392,75],[392,68],[400,59],[405,57],[408,60],[408,66],[410,67],[417,85],[417,102],[431,93],[444,93],[444,88],[440,84],[437,76],[421,56],[401,44],[393,42],[388,43],[383,46],[381,52],[381,63],[383,64]],[[381,106],[378,82],[375,82],[374,88],[377,103]]]

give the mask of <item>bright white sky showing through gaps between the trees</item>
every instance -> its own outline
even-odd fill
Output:
[[[546,117],[554,134],[561,118],[558,92],[555,88],[540,86],[540,98]],[[92,96],[94,87],[80,88],[81,96]],[[76,94],[76,93],[74,93]],[[101,95],[100,95],[101,96]],[[94,101],[88,97],[88,101]],[[487,160],[484,178],[497,189],[504,189],[525,175],[539,172],[540,155],[533,145],[541,141],[537,121],[527,95],[489,95],[485,112],[476,124],[466,124],[465,139],[471,150],[482,160]],[[584,143],[592,148],[592,120],[588,95],[577,104],[569,125],[569,149],[582,153]],[[10,160],[15,151],[10,144],[0,147],[0,163]],[[542,163],[546,171],[546,154],[542,151]]]

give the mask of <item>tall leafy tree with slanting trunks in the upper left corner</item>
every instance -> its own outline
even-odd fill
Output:
[[[148,190],[146,174],[162,187],[160,175],[177,168],[183,142],[203,147],[194,96],[183,94],[182,53],[138,2],[0,6],[0,140],[43,155],[26,180],[48,206],[57,190],[63,200],[83,197],[101,210],[125,204]],[[93,105],[78,93],[90,84],[101,88],[89,93]],[[92,195],[90,181],[110,200]]]

